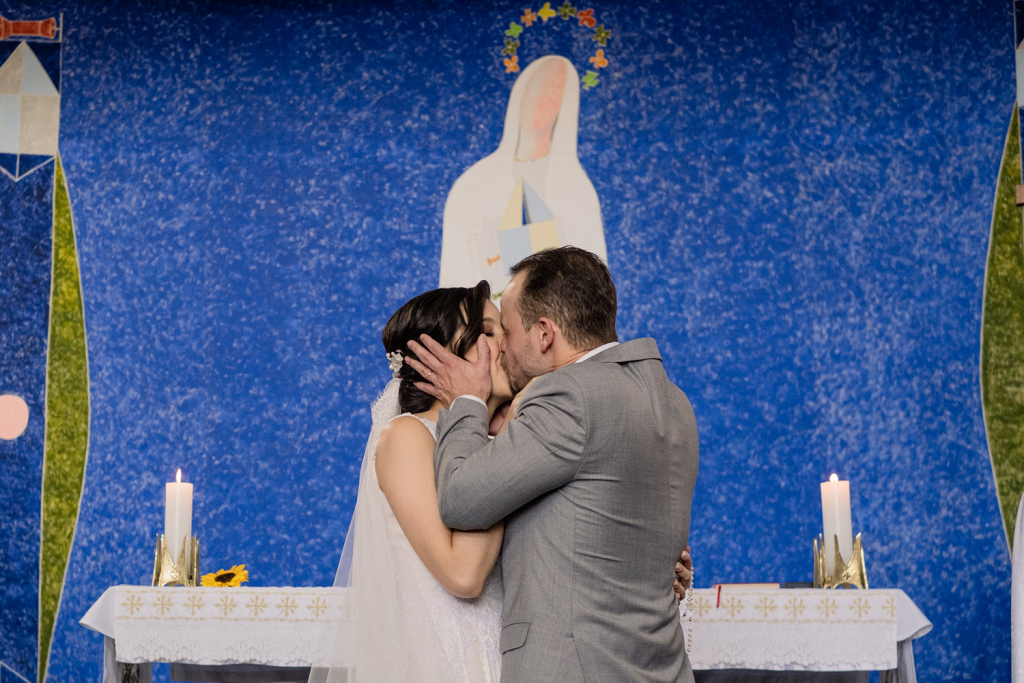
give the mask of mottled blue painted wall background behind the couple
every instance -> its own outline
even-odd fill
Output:
[[[92,424],[54,681],[98,677],[77,622],[145,583],[177,467],[206,569],[330,582],[388,377],[379,330],[435,285],[447,190],[500,138],[522,9],[97,5],[4,10],[63,9],[67,31]],[[809,580],[837,471],[872,585],[936,625],[921,680],[1009,681],[978,355],[1010,3],[594,8],[611,65],[583,94],[580,156],[621,335],[655,337],[696,411],[698,585]],[[521,63],[585,71],[593,46],[560,22]],[[4,638],[34,643],[29,626]]]

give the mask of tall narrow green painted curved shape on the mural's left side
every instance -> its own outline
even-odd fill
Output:
[[[75,226],[59,157],[54,164],[53,282],[46,364],[46,442],[39,560],[40,683],[46,679],[46,664],[75,537],[89,445],[89,370]]]

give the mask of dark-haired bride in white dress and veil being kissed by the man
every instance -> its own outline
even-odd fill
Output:
[[[441,522],[433,459],[441,407],[416,388],[423,378],[402,361],[406,344],[421,334],[471,361],[478,357],[477,340],[486,339],[492,431],[502,422],[499,409],[512,398],[499,362],[501,314],[486,281],[421,294],[384,326],[393,379],[372,407],[332,596],[336,617],[321,634],[310,683],[499,683],[501,677],[497,560],[504,525],[459,531]],[[687,554],[682,560],[688,565]],[[680,594],[689,566],[677,564],[676,573]]]

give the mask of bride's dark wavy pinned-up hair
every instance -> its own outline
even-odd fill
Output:
[[[410,299],[384,326],[381,335],[384,350],[409,355],[412,351],[406,343],[411,339],[420,341],[420,335],[426,334],[456,355],[465,357],[483,333],[483,305],[489,300],[490,285],[485,280],[473,288],[447,287],[424,292]],[[414,382],[424,381],[420,374],[402,362],[398,379],[401,412],[429,411],[434,397],[414,386]]]

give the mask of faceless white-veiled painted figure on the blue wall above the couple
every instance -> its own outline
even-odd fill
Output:
[[[568,59],[544,56],[512,86],[498,150],[449,193],[441,287],[490,283],[497,299],[509,268],[548,247],[572,245],[607,260],[597,193],[577,158],[580,77]]]

